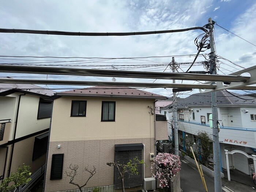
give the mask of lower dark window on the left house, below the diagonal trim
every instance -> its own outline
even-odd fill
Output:
[[[47,152],[48,137],[49,132],[35,137],[32,161]]]

